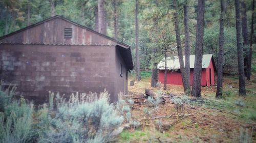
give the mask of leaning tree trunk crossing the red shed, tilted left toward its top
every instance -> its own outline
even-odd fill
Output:
[[[179,20],[177,16],[177,2],[176,0],[173,0],[173,5],[175,8],[174,12],[174,21],[175,21],[175,33],[176,33],[176,42],[177,42],[177,49],[178,49],[178,57],[179,57],[179,63],[180,63],[180,72],[181,72],[181,78],[183,82],[183,88],[185,94],[190,93],[190,84],[188,80],[188,76],[185,74],[185,67],[184,67],[184,61],[183,61],[183,54],[182,54],[182,45],[181,45],[181,40],[180,40],[180,28],[179,28]]]

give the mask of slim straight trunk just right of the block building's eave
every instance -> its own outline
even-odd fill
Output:
[[[139,50],[139,20],[138,20],[138,9],[139,9],[139,0],[135,0],[135,44],[136,44],[136,76],[137,80],[141,80],[140,76],[140,50]]]

